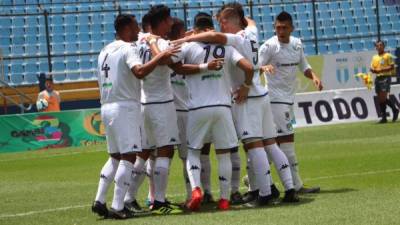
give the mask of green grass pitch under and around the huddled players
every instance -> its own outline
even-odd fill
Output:
[[[302,177],[322,189],[302,196],[298,204],[126,221],[99,220],[90,211],[107,158],[105,146],[2,154],[0,224],[400,224],[399,125],[368,122],[297,129]],[[168,190],[174,202],[184,200],[181,168],[175,158]],[[216,191],[215,175],[213,170]],[[140,192],[142,203],[146,190],[147,183]]]

